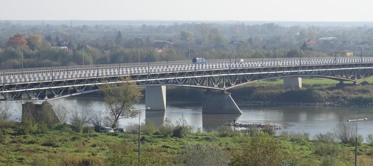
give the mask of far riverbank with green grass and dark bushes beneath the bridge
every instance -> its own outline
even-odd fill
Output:
[[[373,85],[370,80],[359,85],[344,84],[326,79],[304,79],[302,89],[286,89],[282,80],[262,81],[230,89],[236,102],[254,104],[373,106]],[[202,101],[205,90],[172,87],[170,100]],[[180,95],[183,94],[183,95]]]

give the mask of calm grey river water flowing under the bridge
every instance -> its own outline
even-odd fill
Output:
[[[64,98],[51,101],[52,104],[63,104],[66,107],[76,103],[80,108],[104,110],[105,105],[100,98]],[[20,103],[12,103],[14,119],[19,119],[21,113]],[[215,131],[217,126],[235,119],[237,123],[267,123],[278,124],[284,127],[282,131],[306,132],[310,135],[332,131],[338,122],[347,119],[367,117],[368,120],[359,122],[358,133],[365,136],[373,134],[372,108],[356,107],[316,107],[316,106],[244,106],[238,104],[242,115],[203,115],[200,103],[167,102],[166,111],[143,111],[140,121],[152,120],[156,125],[161,125],[165,118],[175,122],[182,116],[188,124],[202,131]],[[145,104],[136,104],[136,108],[144,108]],[[143,116],[145,114],[145,116]],[[125,128],[130,123],[138,122],[138,118],[121,119],[119,126]]]

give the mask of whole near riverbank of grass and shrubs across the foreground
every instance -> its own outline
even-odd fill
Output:
[[[351,124],[341,123],[314,140],[308,133],[256,128],[233,130],[221,126],[217,132],[202,133],[183,118],[176,124],[165,120],[156,127],[141,124],[142,166],[350,166],[354,163],[355,139]],[[135,166],[137,165],[137,124],[127,133],[96,133],[85,126],[75,132],[74,125],[47,126],[32,121],[0,121],[0,165],[34,166]],[[359,166],[373,163],[373,136],[367,143],[359,136]]]

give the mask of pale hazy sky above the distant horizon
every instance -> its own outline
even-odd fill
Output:
[[[0,0],[0,20],[373,21],[372,0]]]

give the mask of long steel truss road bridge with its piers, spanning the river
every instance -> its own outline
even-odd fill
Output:
[[[48,101],[98,91],[103,84],[130,82],[146,86],[145,102],[165,110],[166,86],[187,86],[226,91],[246,83],[284,78],[286,87],[301,87],[302,77],[322,77],[356,83],[373,76],[373,58],[252,58],[58,66],[2,70],[1,101]],[[222,111],[218,111],[218,109]],[[205,113],[240,113],[229,93],[207,94]]]

